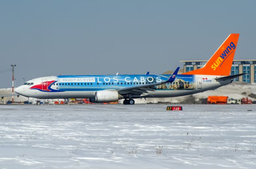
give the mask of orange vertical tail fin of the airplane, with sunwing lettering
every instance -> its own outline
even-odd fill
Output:
[[[200,69],[184,74],[224,75],[230,74],[239,34],[230,34],[223,44],[216,50],[210,60]]]

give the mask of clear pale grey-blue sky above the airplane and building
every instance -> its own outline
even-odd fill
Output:
[[[161,74],[208,60],[230,33],[256,59],[256,1],[0,0],[0,70],[16,86],[52,75]],[[11,87],[11,72],[0,73]]]

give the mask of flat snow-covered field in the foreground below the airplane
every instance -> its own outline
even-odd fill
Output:
[[[166,106],[0,105],[0,168],[256,168],[255,105]]]

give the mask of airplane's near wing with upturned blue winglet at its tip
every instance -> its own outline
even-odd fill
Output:
[[[174,82],[176,75],[178,74],[179,67],[173,72],[173,74],[166,80],[165,82],[159,82],[159,83],[153,83],[153,84],[145,84],[145,85],[139,85],[139,86],[133,86],[133,87],[126,87],[122,89],[118,89],[119,94],[125,94],[125,95],[132,95],[132,97],[140,97],[143,93],[148,93],[148,91],[155,91],[154,87],[156,85],[162,85],[167,83]]]

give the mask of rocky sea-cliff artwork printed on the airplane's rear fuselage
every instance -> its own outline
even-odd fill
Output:
[[[172,83],[162,84],[156,86],[157,90],[193,90],[195,87],[195,80],[193,75],[177,75]]]

